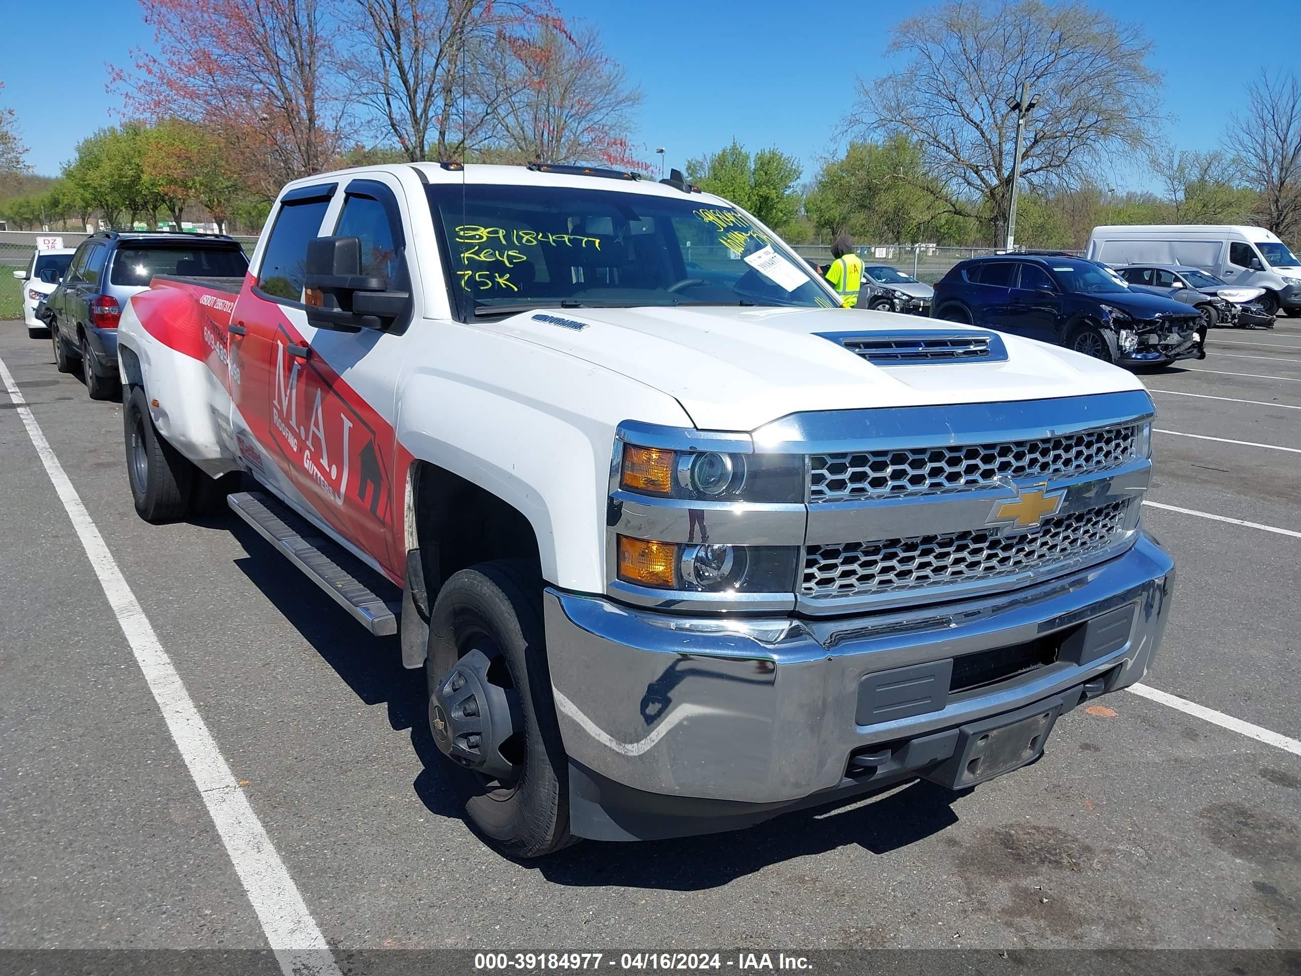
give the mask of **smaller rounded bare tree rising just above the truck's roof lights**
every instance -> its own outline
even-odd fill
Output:
[[[565,35],[545,25],[524,49],[498,51],[496,73],[506,72],[515,81],[506,83],[498,122],[509,148],[548,163],[649,169],[627,142],[641,92],[601,52],[593,29]]]

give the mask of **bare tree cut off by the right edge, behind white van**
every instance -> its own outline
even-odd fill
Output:
[[[1301,234],[1301,83],[1266,70],[1246,86],[1246,112],[1229,118],[1226,146],[1259,194],[1258,219],[1279,236]]]

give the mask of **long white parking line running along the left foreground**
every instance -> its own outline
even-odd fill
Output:
[[[122,576],[104,537],[91,521],[81,496],[73,488],[64,466],[59,463],[3,359],[0,359],[0,380],[4,381],[9,400],[13,401],[18,416],[27,428],[31,445],[36,449],[40,463],[44,465],[46,474],[49,475],[68,518],[72,519],[73,528],[77,530],[77,537],[81,539],[90,565],[99,576],[104,596],[117,617],[126,642],[131,645],[144,682],[163,712],[172,740],[212,816],[212,822],[221,835],[245,891],[248,893],[248,902],[258,914],[262,930],[267,934],[281,971],[285,976],[341,976],[325,936],[316,927],[307,903],[289,876],[289,869],[276,852],[258,815],[254,813],[247,795],[239,789],[203,716],[185,690],[172,658],[159,643],[154,626]]]

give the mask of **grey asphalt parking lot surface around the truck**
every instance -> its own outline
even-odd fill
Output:
[[[396,640],[238,519],[137,518],[121,406],[0,323],[0,360],[336,954],[1301,947],[1301,320],[1216,329],[1209,347],[1145,376],[1160,411],[1145,518],[1179,569],[1147,685],[1272,739],[1120,692],[1059,722],[1038,764],[964,795],[919,782],[743,833],[516,864],[453,808]],[[0,449],[0,947],[264,947],[3,394]]]

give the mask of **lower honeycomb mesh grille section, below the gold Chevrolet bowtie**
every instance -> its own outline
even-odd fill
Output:
[[[1064,569],[1108,548],[1125,531],[1129,500],[1046,518],[1012,535],[980,528],[912,539],[811,545],[800,590],[807,599],[896,593],[1026,570]]]

